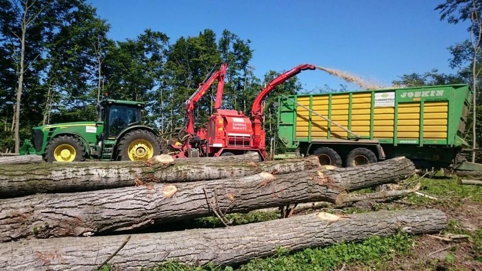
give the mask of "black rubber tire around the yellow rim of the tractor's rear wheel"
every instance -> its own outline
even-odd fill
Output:
[[[149,158],[160,155],[161,154],[161,143],[159,142],[159,138],[154,133],[148,130],[133,130],[124,135],[119,143],[117,144],[117,160],[122,161],[130,161],[132,160],[129,157],[129,146],[136,140],[145,140],[149,142],[153,147],[153,154],[152,156],[147,156],[145,159],[140,157],[140,159],[134,160],[148,160]],[[140,148],[142,149],[142,148]],[[136,156],[137,157],[137,156]]]

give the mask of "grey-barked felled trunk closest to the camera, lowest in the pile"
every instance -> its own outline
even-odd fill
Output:
[[[437,209],[313,213],[229,228],[24,240],[0,246],[0,269],[92,270],[121,247],[108,262],[119,270],[139,270],[170,259],[229,265],[272,255],[278,247],[298,250],[398,231],[438,233],[446,223],[446,215]]]

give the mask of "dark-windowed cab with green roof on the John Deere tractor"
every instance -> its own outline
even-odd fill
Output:
[[[104,139],[115,139],[129,126],[141,123],[143,102],[103,99],[98,104],[98,123],[104,125]]]

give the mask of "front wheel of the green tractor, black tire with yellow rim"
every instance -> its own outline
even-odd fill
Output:
[[[53,139],[45,148],[47,162],[80,162],[85,160],[85,147],[72,135],[61,135]]]

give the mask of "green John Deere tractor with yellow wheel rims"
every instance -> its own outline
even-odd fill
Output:
[[[67,122],[33,128],[21,154],[42,155],[47,162],[89,159],[147,160],[161,152],[159,134],[141,125],[142,102],[103,99],[97,121]]]

